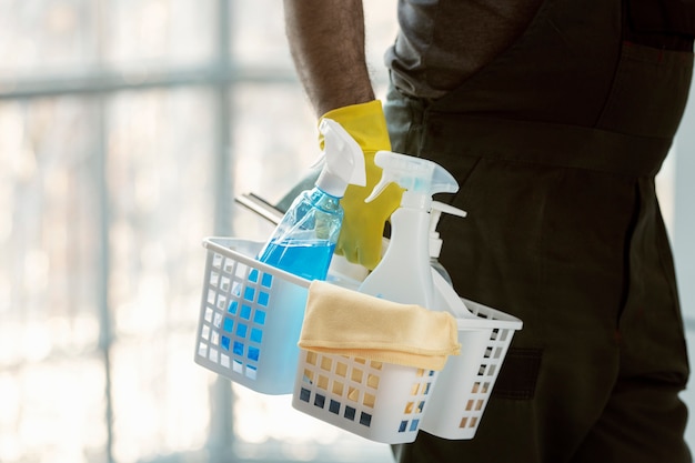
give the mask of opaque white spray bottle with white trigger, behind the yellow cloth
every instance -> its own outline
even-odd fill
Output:
[[[455,193],[459,184],[444,168],[426,159],[380,151],[374,162],[383,173],[365,201],[372,201],[391,182],[405,191],[400,208],[391,215],[389,248],[359,291],[393,302],[437,309],[430,266],[430,208],[433,194]]]

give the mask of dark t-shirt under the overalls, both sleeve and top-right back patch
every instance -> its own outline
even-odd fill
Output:
[[[402,92],[440,98],[526,30],[543,0],[399,0],[400,32],[385,54]],[[629,0],[627,41],[692,51],[695,0]]]

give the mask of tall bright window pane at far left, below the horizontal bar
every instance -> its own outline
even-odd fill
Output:
[[[0,104],[0,461],[105,451],[95,114]]]

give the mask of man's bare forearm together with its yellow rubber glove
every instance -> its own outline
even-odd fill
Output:
[[[401,190],[391,184],[364,202],[381,178],[374,153],[391,150],[391,142],[366,68],[362,0],[284,0],[284,16],[294,66],[316,117],[340,123],[364,152],[366,187],[349,185],[341,199],[345,218],[335,253],[374,269]]]

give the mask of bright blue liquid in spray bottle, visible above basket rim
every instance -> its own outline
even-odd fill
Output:
[[[335,250],[330,241],[271,241],[259,260],[306,280],[325,280]]]

